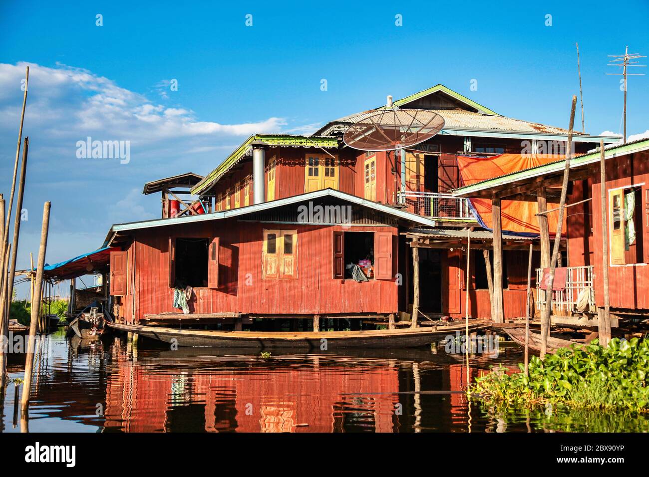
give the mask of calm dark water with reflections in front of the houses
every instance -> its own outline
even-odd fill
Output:
[[[37,358],[32,432],[547,432],[648,430],[644,419],[603,413],[496,411],[467,400],[464,358],[433,350],[334,354],[169,350],[125,338],[43,339]],[[23,358],[24,360],[24,358]],[[515,367],[517,347],[476,354],[474,378]],[[12,365],[13,378],[24,363]],[[14,391],[0,409],[14,425]]]

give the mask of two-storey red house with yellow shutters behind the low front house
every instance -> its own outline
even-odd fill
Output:
[[[526,150],[562,153],[567,130],[501,116],[442,85],[394,104],[434,110],[445,118],[445,127],[440,134],[412,149],[377,153],[358,151],[341,141],[350,125],[374,110],[330,121],[313,136],[256,134],[191,192],[213,199],[214,210],[219,212],[331,188],[427,217],[433,223],[428,242],[434,241],[435,246],[422,247],[419,253],[423,265],[419,286],[426,291],[422,293],[421,310],[431,315],[461,317],[465,314],[466,287],[461,249],[466,239],[458,230],[471,226],[479,230],[480,226],[467,199],[450,194],[461,185],[458,155]],[[587,151],[600,139],[617,140],[576,133],[575,150]],[[409,241],[412,239],[413,236],[408,236]],[[474,246],[488,247],[490,241],[487,232],[480,244]],[[526,259],[522,252],[517,252],[523,247],[524,243],[513,235],[504,247],[506,317],[524,315],[522,277],[526,273]],[[401,311],[410,310],[413,299],[411,255],[411,247],[400,249],[400,265],[408,289]],[[479,288],[472,290],[470,314],[489,317],[491,304],[482,251],[476,252],[472,262],[472,283]]]

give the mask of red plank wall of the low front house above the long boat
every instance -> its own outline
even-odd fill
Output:
[[[262,280],[263,228],[298,230],[297,278]],[[333,231],[343,226],[282,225],[237,222],[230,219],[190,226],[167,226],[136,232],[129,247],[129,263],[136,257],[135,281],[120,315],[130,321],[135,291],[136,320],[147,313],[178,312],[169,288],[169,236],[221,239],[219,267],[223,284],[217,290],[197,287],[190,304],[195,313],[394,313],[398,287],[393,280],[335,280]],[[356,227],[354,231],[393,234],[393,274],[397,273],[397,228]],[[246,284],[248,283],[248,285]]]

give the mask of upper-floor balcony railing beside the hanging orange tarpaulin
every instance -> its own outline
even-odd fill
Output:
[[[476,221],[465,197],[438,192],[399,192],[398,201],[408,212],[431,219]]]

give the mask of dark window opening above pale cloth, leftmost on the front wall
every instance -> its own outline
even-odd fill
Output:
[[[169,286],[208,286],[208,245],[206,238],[169,239]]]

